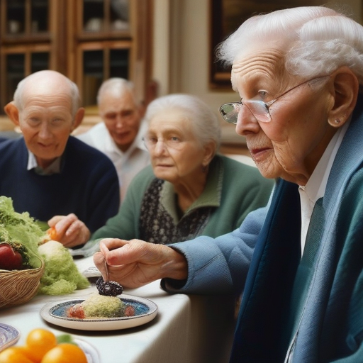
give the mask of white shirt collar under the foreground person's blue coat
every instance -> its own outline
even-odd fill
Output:
[[[301,255],[303,254],[303,249],[305,247],[306,234],[308,233],[308,226],[315,202],[325,194],[326,184],[335,160],[335,155],[337,155],[337,150],[342,143],[342,139],[344,138],[349,124],[350,120],[348,120],[342,128],[338,128],[332,140],[330,140],[328,147],[325,149],[323,156],[316,165],[313,174],[311,174],[311,177],[308,179],[308,182],[305,186],[299,186],[298,188],[301,201]]]

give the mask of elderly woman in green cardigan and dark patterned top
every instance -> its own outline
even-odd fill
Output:
[[[274,182],[218,155],[220,124],[201,99],[162,96],[147,107],[145,119],[151,165],[133,179],[118,214],[77,253],[91,255],[101,238],[169,244],[216,237],[267,204]]]

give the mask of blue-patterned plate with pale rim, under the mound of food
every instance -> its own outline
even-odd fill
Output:
[[[60,303],[47,303],[40,311],[41,317],[58,326],[79,330],[118,330],[133,328],[151,321],[157,315],[157,305],[147,298],[122,294],[125,306],[133,306],[134,316],[121,318],[68,318],[67,310],[84,300],[67,300]]]

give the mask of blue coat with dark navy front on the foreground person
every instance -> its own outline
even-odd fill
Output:
[[[290,307],[294,308],[290,296],[303,261],[296,184],[277,181],[269,207],[250,213],[232,233],[173,245],[186,256],[189,272],[186,281],[163,279],[167,291],[240,294],[243,290],[231,363],[363,362],[362,143],[363,96],[359,95],[330,171],[320,222],[311,220],[320,240],[311,260],[313,274],[292,314],[292,329],[286,325],[291,321]]]

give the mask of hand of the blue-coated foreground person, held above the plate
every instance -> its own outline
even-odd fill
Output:
[[[106,238],[99,247],[94,264],[106,279],[106,260],[108,279],[124,287],[133,289],[166,277],[186,279],[188,274],[184,255],[165,245]]]

